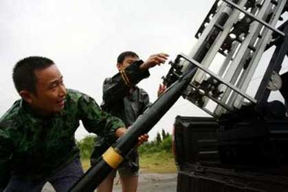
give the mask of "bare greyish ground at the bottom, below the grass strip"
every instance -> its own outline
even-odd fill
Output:
[[[138,192],[175,192],[177,173],[140,173]],[[42,192],[54,191],[51,184],[45,184]],[[119,179],[115,178],[113,192],[121,192]]]

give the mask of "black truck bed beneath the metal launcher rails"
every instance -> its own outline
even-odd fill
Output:
[[[177,191],[288,191],[288,122],[176,117]]]

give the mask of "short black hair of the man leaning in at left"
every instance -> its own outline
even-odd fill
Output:
[[[36,94],[36,75],[34,71],[45,69],[54,64],[53,60],[30,56],[19,60],[13,68],[12,78],[18,93],[26,90]]]

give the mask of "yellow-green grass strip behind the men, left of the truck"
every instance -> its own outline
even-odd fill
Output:
[[[82,159],[85,171],[90,167],[89,159]],[[159,152],[153,154],[142,154],[140,156],[140,170],[144,173],[175,173],[176,167],[173,154]]]

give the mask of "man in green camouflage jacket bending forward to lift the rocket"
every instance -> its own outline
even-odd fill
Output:
[[[0,119],[0,191],[41,191],[45,182],[67,191],[83,174],[74,139],[79,120],[111,142],[126,132],[124,123],[66,89],[48,58],[24,58],[12,76],[21,99]]]

